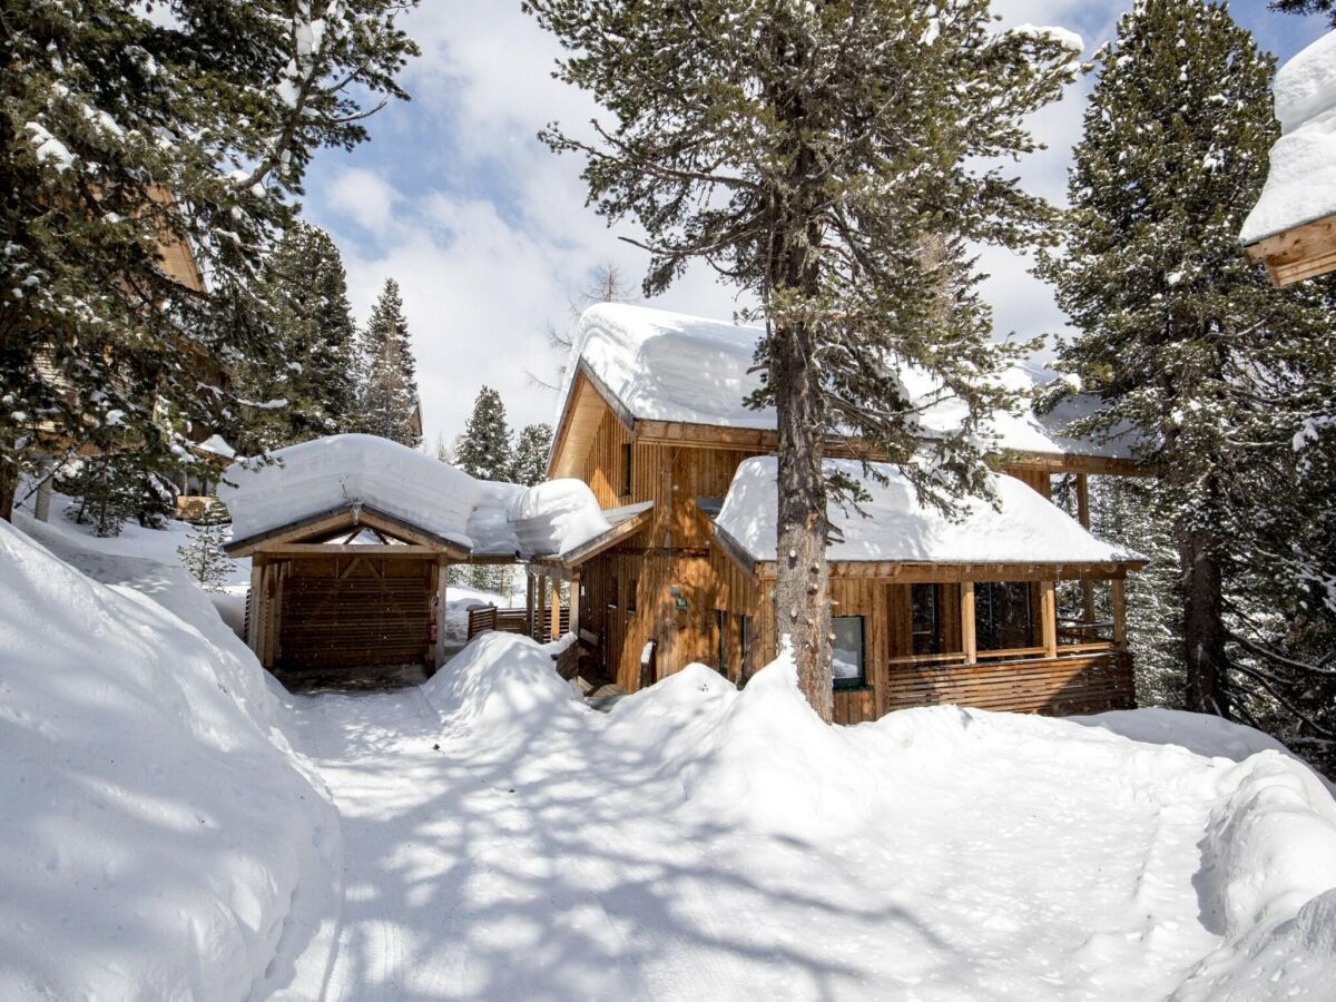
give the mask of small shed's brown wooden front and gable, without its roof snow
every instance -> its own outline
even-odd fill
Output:
[[[350,502],[227,546],[251,558],[246,643],[273,671],[438,663],[445,568],[469,550]]]

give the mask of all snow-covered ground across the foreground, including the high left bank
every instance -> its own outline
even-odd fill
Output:
[[[1333,997],[1336,802],[1248,728],[830,728],[784,663],[603,715],[510,635],[290,696],[131,536],[23,525],[0,998]]]

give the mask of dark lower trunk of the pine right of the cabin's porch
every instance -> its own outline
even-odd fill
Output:
[[[1216,541],[1208,533],[1188,533],[1178,541],[1178,564],[1184,595],[1184,664],[1188,668],[1185,703],[1197,713],[1228,717],[1224,600]]]

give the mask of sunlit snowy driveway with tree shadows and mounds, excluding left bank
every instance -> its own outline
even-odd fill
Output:
[[[554,649],[484,635],[421,689],[297,701],[347,839],[331,999],[1267,999],[1336,978],[1336,804],[1248,728],[954,707],[831,728],[783,661],[743,692],[692,665],[601,715]]]

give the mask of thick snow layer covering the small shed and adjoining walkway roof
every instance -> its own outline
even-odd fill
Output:
[[[398,442],[330,436],[278,449],[262,466],[232,464],[219,497],[232,545],[341,508],[370,508],[472,556],[536,557],[576,549],[612,528],[589,488],[480,481]]]

